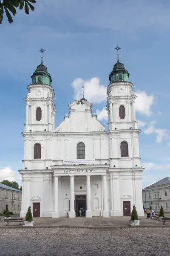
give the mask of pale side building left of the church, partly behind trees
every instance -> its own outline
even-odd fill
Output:
[[[9,212],[20,213],[21,191],[0,183],[0,213],[8,207]]]

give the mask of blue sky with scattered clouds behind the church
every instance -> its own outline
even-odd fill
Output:
[[[170,3],[37,0],[34,6],[30,15],[18,10],[13,24],[5,17],[0,25],[0,180],[15,179],[21,184],[17,170],[23,159],[23,99],[40,64],[38,50],[46,50],[44,64],[56,94],[55,126],[85,84],[85,98],[107,129],[103,92],[116,63],[116,45],[122,48],[119,59],[138,96],[139,150],[146,167],[142,186],[170,176]]]

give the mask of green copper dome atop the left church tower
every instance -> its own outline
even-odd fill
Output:
[[[31,76],[32,84],[48,84],[51,85],[52,79],[50,74],[47,71],[42,63],[37,67],[35,72]]]

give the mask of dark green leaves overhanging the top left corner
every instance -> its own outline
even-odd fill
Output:
[[[17,13],[17,8],[22,10],[24,7],[26,14],[29,14],[29,8],[31,9],[31,11],[34,11],[34,6],[31,5],[30,2],[36,3],[35,0],[0,0],[0,24],[3,21],[4,11],[6,13],[9,23],[13,22],[11,14],[15,16]]]

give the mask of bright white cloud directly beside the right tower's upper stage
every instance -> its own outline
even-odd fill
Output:
[[[151,106],[153,105],[153,95],[147,95],[145,91],[137,90],[135,93],[137,97],[135,102],[135,110],[141,113],[144,116],[151,115]]]

